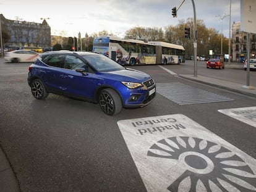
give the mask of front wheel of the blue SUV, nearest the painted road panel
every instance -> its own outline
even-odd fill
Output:
[[[107,115],[116,115],[122,111],[122,101],[119,94],[109,88],[101,91],[99,104],[101,110]]]

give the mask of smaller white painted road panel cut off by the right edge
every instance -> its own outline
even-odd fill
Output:
[[[218,112],[240,120],[241,122],[247,123],[252,127],[256,127],[256,106],[234,109],[220,109]]]

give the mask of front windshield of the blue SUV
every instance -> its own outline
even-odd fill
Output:
[[[124,67],[117,64],[113,60],[101,54],[86,55],[83,58],[98,72],[110,72],[114,70],[122,70]]]

